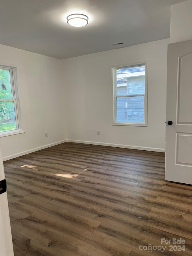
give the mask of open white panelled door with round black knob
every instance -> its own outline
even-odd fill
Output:
[[[192,184],[191,47],[191,40],[168,44],[167,56],[165,180],[186,184]]]

